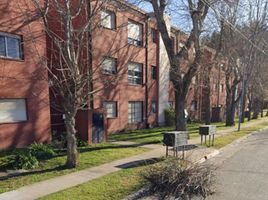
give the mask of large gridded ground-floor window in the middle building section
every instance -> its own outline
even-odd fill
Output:
[[[128,103],[128,122],[139,123],[142,122],[142,102],[129,102]]]

